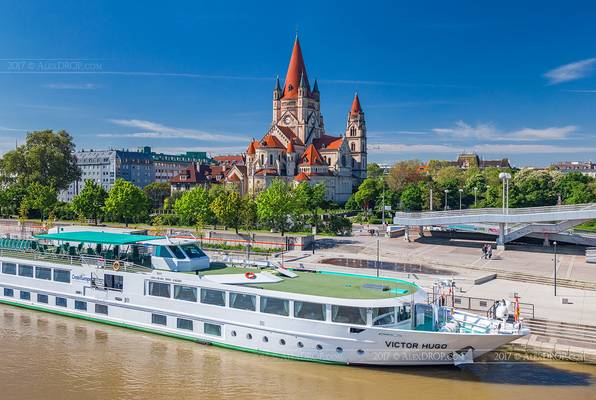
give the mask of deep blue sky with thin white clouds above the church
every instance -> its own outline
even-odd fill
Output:
[[[357,92],[369,162],[596,161],[592,1],[0,0],[0,154],[242,152],[271,124],[296,32],[328,134]]]

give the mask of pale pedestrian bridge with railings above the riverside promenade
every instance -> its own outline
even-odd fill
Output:
[[[393,223],[406,227],[494,223],[499,225],[497,243],[503,245],[522,236],[536,233],[544,234],[548,241],[548,234],[566,231],[591,219],[596,219],[596,203],[509,209],[473,208],[414,213],[397,212]]]

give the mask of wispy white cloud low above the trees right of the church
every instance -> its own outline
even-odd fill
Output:
[[[480,139],[490,141],[560,140],[566,139],[570,134],[577,132],[577,126],[552,126],[542,129],[522,128],[515,131],[502,132],[491,123],[477,124],[473,126],[464,121],[457,121],[452,128],[434,128],[433,132],[438,135],[457,139]]]

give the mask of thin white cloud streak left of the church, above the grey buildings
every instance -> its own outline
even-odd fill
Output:
[[[245,137],[211,133],[197,129],[175,128],[157,122],[140,119],[111,119],[110,122],[130,128],[142,129],[142,132],[133,133],[103,133],[99,137],[135,137],[151,139],[192,139],[204,141],[238,141],[246,140]]]

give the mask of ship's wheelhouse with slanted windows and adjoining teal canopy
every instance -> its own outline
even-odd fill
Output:
[[[124,233],[76,231],[37,235],[33,251],[71,262],[114,269],[160,269],[174,272],[209,268],[209,257],[195,240]]]

